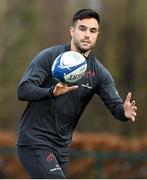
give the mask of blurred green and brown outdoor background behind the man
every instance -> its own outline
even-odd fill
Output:
[[[138,116],[135,123],[120,122],[94,96],[74,133],[68,177],[147,178],[146,0],[0,1],[0,178],[29,178],[15,150],[26,106],[17,100],[18,83],[38,52],[70,41],[72,17],[81,8],[100,14],[93,51],[122,98],[132,91]]]

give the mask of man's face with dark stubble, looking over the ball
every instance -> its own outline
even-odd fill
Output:
[[[82,54],[89,53],[96,43],[99,33],[99,25],[96,19],[78,20],[74,27],[70,28],[71,50]]]

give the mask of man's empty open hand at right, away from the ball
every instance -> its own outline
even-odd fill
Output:
[[[124,102],[124,113],[126,118],[134,122],[137,115],[137,106],[135,105],[135,100],[131,101],[131,96],[132,93],[129,92]]]

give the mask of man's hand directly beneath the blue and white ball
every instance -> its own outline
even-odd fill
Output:
[[[63,84],[61,82],[57,83],[54,90],[53,90],[53,94],[54,96],[59,96],[59,95],[63,95],[66,94],[69,91],[73,91],[78,89],[78,86],[74,85],[74,86],[67,86],[67,84]]]

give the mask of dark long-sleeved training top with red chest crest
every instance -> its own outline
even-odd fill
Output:
[[[17,144],[50,147],[61,162],[68,160],[73,130],[95,93],[117,119],[127,120],[109,71],[92,53],[87,57],[86,73],[77,82],[78,89],[53,96],[57,80],[52,76],[51,66],[59,54],[69,50],[68,44],[40,52],[18,87],[18,99],[28,101],[28,105],[21,118]]]

